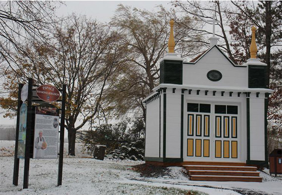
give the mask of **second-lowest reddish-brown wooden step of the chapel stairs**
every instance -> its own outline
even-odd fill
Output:
[[[259,177],[258,171],[209,171],[209,170],[189,170],[189,176],[191,175],[220,175],[220,176],[251,176]]]

